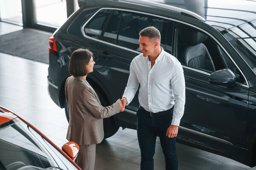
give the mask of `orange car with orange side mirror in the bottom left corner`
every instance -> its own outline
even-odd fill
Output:
[[[81,170],[74,162],[79,146],[62,150],[17,114],[0,106],[0,169]]]

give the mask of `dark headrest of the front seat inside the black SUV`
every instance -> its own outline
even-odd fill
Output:
[[[186,42],[191,45],[197,45],[207,40],[207,36],[201,32],[195,30],[187,30],[186,31]]]

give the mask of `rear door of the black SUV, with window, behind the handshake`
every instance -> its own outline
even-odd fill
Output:
[[[139,32],[148,26],[155,26],[160,32],[164,32],[167,26],[165,21],[167,20],[136,11],[114,9],[111,12],[101,40],[97,42],[94,50],[94,69],[101,73],[101,81],[114,101],[122,97],[130,74],[130,63],[141,53]],[[164,43],[161,45],[165,47]],[[126,106],[125,113],[119,113],[119,124],[136,129],[134,118],[138,108],[137,91],[132,102]]]

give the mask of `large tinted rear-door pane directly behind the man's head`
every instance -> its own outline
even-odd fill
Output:
[[[162,37],[164,37],[162,34],[164,22],[165,20],[163,18],[123,11],[119,28],[118,45],[139,51],[140,31],[148,26],[154,26],[160,31]]]

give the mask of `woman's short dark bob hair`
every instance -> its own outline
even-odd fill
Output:
[[[93,53],[88,49],[79,48],[75,50],[70,57],[70,63],[68,66],[68,71],[70,75],[74,77],[86,76],[88,70],[86,65],[90,62],[90,58]]]

